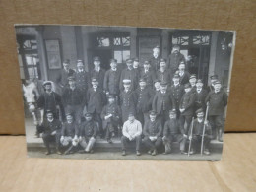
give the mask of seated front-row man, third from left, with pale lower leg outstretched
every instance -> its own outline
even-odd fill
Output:
[[[86,121],[80,125],[79,144],[85,149],[85,152],[93,153],[96,143],[97,125],[91,113],[86,113],[85,118]]]

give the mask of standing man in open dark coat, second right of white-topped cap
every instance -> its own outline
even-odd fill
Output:
[[[169,111],[175,109],[175,101],[170,93],[167,92],[167,83],[160,82],[160,92],[157,93],[152,102],[152,109],[157,112],[164,126],[168,119]]]

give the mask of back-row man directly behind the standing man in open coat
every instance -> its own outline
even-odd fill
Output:
[[[160,59],[160,69],[157,71],[157,79],[161,82],[166,82],[169,86],[172,80],[172,73],[166,67],[166,60]]]

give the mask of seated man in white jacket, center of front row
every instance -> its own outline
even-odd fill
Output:
[[[142,134],[142,124],[140,121],[136,120],[134,113],[130,112],[128,115],[128,120],[123,124],[123,136],[121,137],[122,143],[122,156],[126,156],[126,146],[127,142],[136,141],[136,155],[140,156],[140,146],[141,146],[141,134]]]

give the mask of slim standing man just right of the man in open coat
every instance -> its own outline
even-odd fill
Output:
[[[175,74],[172,80],[173,80],[173,84],[170,87],[170,94],[174,98],[176,116],[177,118],[179,118],[180,116],[179,103],[180,103],[181,97],[184,95],[184,86],[180,85],[179,83],[179,75]]]

